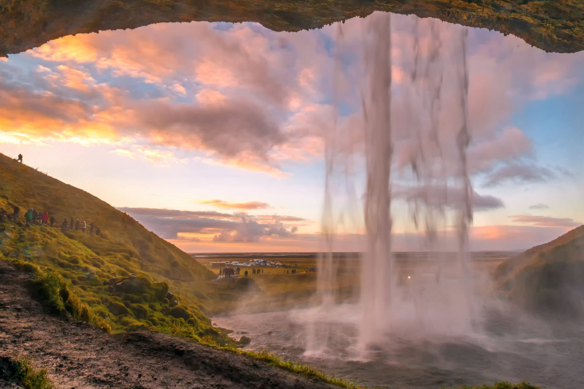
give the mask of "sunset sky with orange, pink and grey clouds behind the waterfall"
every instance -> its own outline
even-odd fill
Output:
[[[361,251],[370,124],[387,114],[394,250],[425,250],[429,233],[456,248],[463,124],[472,250],[584,223],[584,52],[392,15],[387,107],[373,94],[384,18],[297,33],[161,23],[0,58],[0,152],[187,252],[319,251],[324,237]]]

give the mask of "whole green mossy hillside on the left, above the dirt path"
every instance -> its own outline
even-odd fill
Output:
[[[19,220],[0,221],[0,256],[54,271],[114,331],[150,329],[224,343],[203,313],[218,299],[207,282],[215,276],[190,255],[95,196],[0,155],[0,215],[12,214],[14,205]],[[58,222],[26,226],[30,207]],[[71,216],[92,220],[101,236],[60,229]],[[177,289],[189,295],[173,294]]]

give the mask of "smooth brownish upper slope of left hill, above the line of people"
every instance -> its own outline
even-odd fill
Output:
[[[166,275],[171,278],[176,276],[187,281],[203,281],[215,277],[213,272],[189,254],[148,231],[126,213],[88,192],[2,154],[0,196],[0,212],[12,213],[11,205],[16,204],[20,206],[21,217],[26,209],[33,207],[39,211],[48,211],[57,218],[57,223],[61,223],[64,218],[93,221],[102,228],[105,239],[93,239],[89,234],[65,231],[69,239],[83,244],[93,254],[109,253],[126,261],[134,258],[134,262],[140,260],[146,265],[153,265],[155,269],[168,271]]]

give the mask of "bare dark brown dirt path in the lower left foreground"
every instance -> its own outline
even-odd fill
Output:
[[[28,281],[0,260],[0,357],[26,356],[60,389],[337,388],[185,339],[107,335],[51,316],[31,299]]]

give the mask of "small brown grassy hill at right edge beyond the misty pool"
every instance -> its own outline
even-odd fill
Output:
[[[584,226],[509,258],[496,269],[499,288],[537,313],[584,314]]]

